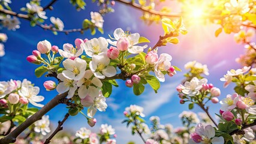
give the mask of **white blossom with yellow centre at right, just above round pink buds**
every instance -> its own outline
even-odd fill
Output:
[[[236,107],[237,100],[235,101],[236,97],[239,97],[237,93],[233,95],[228,94],[226,98],[221,100],[219,103],[221,104],[221,110],[223,111],[230,111]]]

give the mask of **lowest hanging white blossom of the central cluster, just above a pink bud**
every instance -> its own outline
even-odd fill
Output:
[[[91,118],[95,115],[97,112],[97,109],[100,112],[105,112],[108,105],[106,104],[106,98],[102,95],[102,92],[99,92],[99,95],[94,98],[93,104],[88,108],[87,115]]]

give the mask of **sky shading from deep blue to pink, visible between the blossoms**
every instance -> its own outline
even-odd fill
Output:
[[[42,5],[46,5],[49,1],[43,1]],[[11,8],[14,11],[19,11],[20,7],[25,7],[25,1],[13,1]],[[7,43],[5,45],[5,56],[0,58],[0,80],[22,80],[28,79],[35,86],[41,88],[40,95],[45,97],[43,104],[46,104],[56,94],[56,91],[47,92],[43,88],[43,82],[46,80],[53,80],[46,77],[37,79],[34,76],[34,70],[37,65],[29,64],[26,61],[26,56],[31,55],[32,50],[37,49],[37,43],[41,40],[48,40],[52,45],[62,47],[64,43],[72,43],[76,38],[94,38],[94,37],[108,37],[108,34],[112,35],[116,28],[122,28],[124,30],[131,29],[132,33],[139,32],[141,36],[147,37],[152,43],[158,40],[159,35],[163,34],[162,26],[160,24],[153,24],[151,26],[145,25],[142,20],[139,19],[141,11],[126,7],[126,5],[116,4],[114,6],[115,13],[106,14],[104,16],[104,31],[105,34],[97,32],[96,35],[91,36],[90,32],[85,32],[84,35],[79,33],[72,33],[69,35],[58,34],[53,35],[50,31],[44,31],[43,29],[35,26],[31,28],[29,22],[26,20],[20,20],[22,23],[20,29],[17,31],[7,31],[7,29],[1,29],[8,35]],[[65,25],[66,29],[69,28],[81,28],[82,21],[84,19],[90,19],[90,11],[98,11],[96,4],[87,2],[85,10],[76,11],[75,7],[69,4],[69,1],[58,1],[54,5],[53,11],[46,11],[48,17],[59,17]],[[50,23],[46,20],[46,23]],[[186,25],[186,24],[185,24]],[[135,96],[132,89],[124,86],[122,80],[118,80],[120,85],[118,88],[114,88],[111,97],[107,98],[108,109],[106,112],[97,112],[97,124],[93,130],[98,130],[100,124],[108,123],[114,126],[117,132],[117,142],[126,143],[129,140],[133,140],[136,143],[142,143],[138,136],[132,136],[130,130],[125,125],[121,124],[123,120],[123,111],[125,107],[130,104],[137,104],[144,107],[145,119],[148,120],[150,116],[157,115],[162,118],[162,124],[171,123],[175,127],[181,126],[181,122],[178,119],[178,114],[187,109],[187,104],[179,104],[179,98],[175,87],[183,79],[183,74],[186,72],[183,65],[188,61],[197,60],[203,64],[207,64],[209,67],[210,83],[213,83],[216,87],[221,88],[222,94],[220,99],[224,98],[227,94],[232,94],[232,85],[228,88],[223,88],[223,82],[219,80],[227,70],[231,68],[240,68],[234,59],[237,58],[240,53],[244,52],[243,46],[238,45],[233,40],[233,34],[221,34],[218,38],[215,37],[214,32],[219,26],[216,25],[192,25],[187,27],[188,34],[181,35],[179,37],[180,43],[177,45],[168,45],[160,47],[160,53],[169,53],[172,55],[172,64],[180,67],[183,72],[176,74],[174,77],[167,77],[166,82],[161,83],[161,88],[157,94],[150,86],[146,86],[146,91],[139,97]],[[254,37],[255,41],[255,37]],[[219,111],[219,104],[210,104],[210,113],[212,115]],[[194,112],[203,112],[198,107],[195,107]],[[62,119],[67,113],[67,109],[64,105],[59,105],[55,109],[50,110],[47,115],[50,116],[53,126],[56,127],[57,121]],[[86,113],[86,111],[85,111]],[[76,131],[80,127],[88,127],[87,120],[82,115],[77,115],[69,118],[64,125],[64,130]]]

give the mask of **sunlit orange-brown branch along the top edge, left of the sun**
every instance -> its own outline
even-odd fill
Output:
[[[117,2],[120,2],[122,4],[126,4],[126,5],[129,5],[130,7],[133,7],[133,8],[136,8],[138,10],[141,10],[141,11],[144,11],[144,12],[147,12],[147,13],[150,13],[150,14],[155,14],[157,16],[165,16],[165,17],[181,17],[181,14],[180,13],[162,13],[160,11],[156,11],[156,10],[149,10],[148,8],[146,7],[143,7],[139,4],[136,4],[135,2],[132,2],[132,1],[126,1],[126,0],[115,0]]]

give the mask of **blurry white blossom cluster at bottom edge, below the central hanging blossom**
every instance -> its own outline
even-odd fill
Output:
[[[106,144],[115,144],[115,137],[117,137],[115,129],[112,128],[111,125],[102,124],[99,134],[93,133],[85,127],[80,128],[80,130],[76,131],[76,138],[73,142],[84,144],[99,144],[105,142]]]

